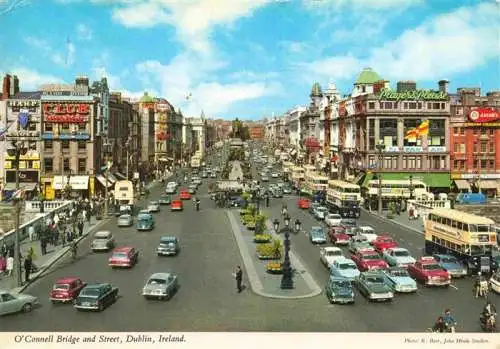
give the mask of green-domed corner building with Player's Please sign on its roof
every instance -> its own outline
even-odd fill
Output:
[[[380,172],[385,179],[424,181],[431,190],[448,190],[449,113],[447,81],[439,90],[419,90],[412,81],[388,82],[365,70],[355,91],[339,106],[342,174],[364,183]],[[427,125],[428,131],[413,130]],[[377,148],[378,144],[383,145]],[[354,171],[353,171],[354,170]],[[351,172],[352,171],[352,172]]]

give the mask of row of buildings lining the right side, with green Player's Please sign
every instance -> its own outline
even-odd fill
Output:
[[[419,179],[435,191],[500,193],[500,92],[436,90],[399,81],[396,89],[365,68],[352,93],[312,87],[309,106],[265,121],[266,139],[332,178],[359,184],[377,172]],[[415,133],[420,127],[424,132]]]

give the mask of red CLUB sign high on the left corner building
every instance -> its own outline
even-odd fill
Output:
[[[46,103],[43,105],[45,122],[85,123],[89,114],[90,105],[86,103]]]

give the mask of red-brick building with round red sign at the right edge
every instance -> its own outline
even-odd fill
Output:
[[[451,178],[459,191],[500,192],[500,92],[479,88],[451,95]]]

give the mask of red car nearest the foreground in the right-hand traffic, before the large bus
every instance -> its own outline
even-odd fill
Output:
[[[451,275],[441,268],[434,257],[421,257],[408,266],[408,274],[428,286],[450,286]]]

